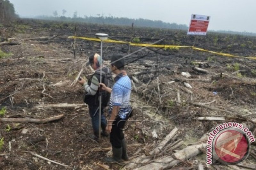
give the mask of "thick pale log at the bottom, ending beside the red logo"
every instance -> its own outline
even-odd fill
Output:
[[[206,149],[207,144],[198,144],[188,146],[176,153],[172,156],[166,156],[164,158],[156,159],[155,162],[152,162],[148,165],[141,166],[136,168],[136,170],[158,170],[158,169],[167,169],[171,168],[182,162],[182,160],[190,159],[197,154],[201,153],[201,149]]]

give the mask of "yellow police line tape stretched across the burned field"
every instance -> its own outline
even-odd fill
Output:
[[[69,36],[68,38],[72,38],[72,39],[83,39],[83,40],[89,40],[89,41],[101,41],[98,38],[88,38],[88,37],[76,37],[76,36]],[[130,44],[132,46],[140,46],[140,47],[155,47],[155,48],[193,48],[195,50],[199,50],[199,51],[204,51],[204,52],[209,52],[212,54],[217,54],[217,55],[223,55],[223,56],[227,56],[227,57],[238,57],[238,58],[247,58],[247,59],[252,59],[252,60],[256,60],[256,57],[245,57],[245,56],[237,56],[237,55],[231,55],[231,54],[227,54],[227,53],[220,53],[220,52],[214,52],[214,51],[209,51],[209,50],[205,50],[202,48],[196,48],[193,46],[177,46],[177,45],[158,45],[158,44],[140,44],[140,43],[132,43],[132,42],[126,42],[126,41],[116,41],[116,40],[103,40],[103,42],[112,42],[112,43],[123,43],[123,44]]]

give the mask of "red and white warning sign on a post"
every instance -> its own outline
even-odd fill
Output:
[[[206,35],[210,16],[192,14],[188,35]]]

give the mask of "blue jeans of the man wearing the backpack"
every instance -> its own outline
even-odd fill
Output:
[[[103,114],[104,107],[101,107],[101,129],[105,131],[107,126],[107,120]],[[92,119],[92,129],[95,136],[99,136],[99,115],[100,107],[99,106],[89,106],[89,113]]]

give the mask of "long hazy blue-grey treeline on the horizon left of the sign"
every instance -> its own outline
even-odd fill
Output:
[[[179,25],[176,23],[166,23],[163,21],[153,21],[149,19],[131,19],[131,18],[118,18],[118,17],[88,17],[84,16],[84,18],[81,17],[49,17],[49,16],[38,16],[36,18],[39,19],[46,19],[46,20],[58,20],[58,21],[75,21],[75,22],[85,22],[85,23],[93,23],[93,24],[108,24],[108,25],[119,25],[119,26],[132,26],[132,23],[134,26],[139,27],[154,27],[154,28],[169,28],[169,29],[182,29],[187,30],[188,26],[185,24]]]

